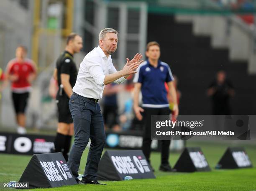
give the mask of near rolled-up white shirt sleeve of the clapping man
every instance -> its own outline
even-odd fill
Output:
[[[97,58],[96,56],[87,58],[86,65],[96,84],[98,84],[99,86],[104,86],[105,75],[99,58]]]

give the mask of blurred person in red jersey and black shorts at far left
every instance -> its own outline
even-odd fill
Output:
[[[32,60],[26,58],[26,55],[26,47],[18,46],[16,58],[9,61],[6,69],[6,78],[11,81],[12,99],[19,134],[26,133],[25,110],[31,92],[31,83],[36,78],[36,66]]]

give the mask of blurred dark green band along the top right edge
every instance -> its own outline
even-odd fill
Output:
[[[134,2],[134,0],[102,0],[108,2]],[[140,0],[148,3],[148,12],[164,14],[256,14],[256,0]],[[139,1],[136,1],[137,3]]]

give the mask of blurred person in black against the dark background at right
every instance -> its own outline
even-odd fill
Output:
[[[231,82],[226,79],[225,71],[218,71],[216,80],[213,81],[207,89],[207,95],[212,98],[212,114],[230,115],[229,99],[233,97],[234,94],[234,87]]]

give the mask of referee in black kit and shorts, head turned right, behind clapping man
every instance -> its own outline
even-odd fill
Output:
[[[74,63],[74,53],[82,49],[82,38],[77,33],[71,33],[67,37],[67,46],[56,61],[54,79],[58,81],[59,90],[56,95],[58,107],[58,127],[54,141],[55,152],[62,152],[68,160],[69,148],[72,135],[74,134],[74,123],[69,110],[69,98],[73,94],[72,88],[77,80],[77,66]]]

